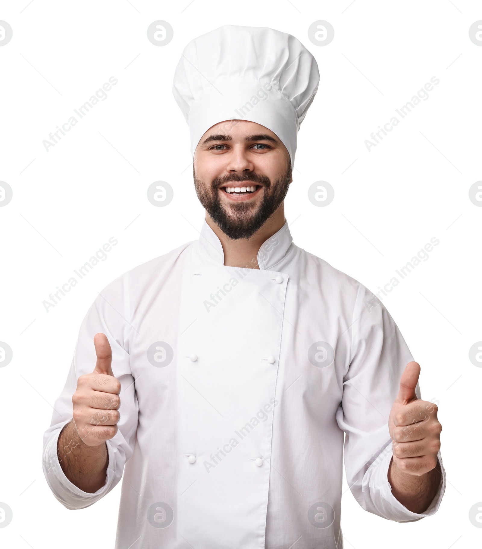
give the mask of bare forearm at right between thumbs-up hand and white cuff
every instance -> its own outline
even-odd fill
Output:
[[[437,461],[435,469],[423,475],[412,475],[400,470],[393,458],[388,470],[392,494],[413,513],[423,513],[434,500],[440,485],[442,472]]]

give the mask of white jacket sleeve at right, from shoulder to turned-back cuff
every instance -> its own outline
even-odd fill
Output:
[[[366,511],[397,522],[413,522],[434,514],[446,483],[439,452],[439,489],[428,509],[418,514],[395,498],[388,481],[392,458],[388,419],[402,372],[412,360],[388,311],[360,286],[353,311],[351,361],[336,419],[346,433],[345,470],[353,496]],[[418,385],[415,393],[420,398]]]

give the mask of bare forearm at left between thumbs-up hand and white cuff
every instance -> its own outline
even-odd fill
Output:
[[[87,446],[71,421],[63,428],[57,442],[57,455],[65,476],[77,488],[93,494],[106,484],[109,464],[106,443]]]

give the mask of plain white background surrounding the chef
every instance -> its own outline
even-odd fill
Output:
[[[27,3],[3,0],[0,9],[13,28],[0,47],[0,180],[13,188],[0,208],[0,340],[13,349],[0,368],[0,502],[13,509],[0,545],[113,546],[120,484],[94,506],[68,511],[43,478],[42,436],[97,292],[198,236],[203,210],[173,74],[192,38],[236,24],[289,32],[318,61],[320,87],[286,199],[295,243],[377,292],[432,237],[440,240],[384,304],[422,366],[423,398],[439,401],[445,498],[434,517],[398,524],[363,511],[348,490],[345,547],[480,547],[482,529],[468,518],[482,501],[482,368],[468,358],[482,340],[482,208],[468,198],[482,179],[482,47],[468,36],[482,19],[480,2]],[[174,29],[163,47],[146,35],[158,19]],[[335,29],[324,47],[307,35],[319,19]],[[42,140],[110,76],[118,84],[108,98],[46,152]],[[368,152],[364,140],[433,76],[440,83],[429,99]],[[157,180],[174,188],[165,208],[146,198]],[[307,197],[318,180],[335,189],[325,208]],[[109,237],[119,243],[108,259],[46,312],[42,301]]]

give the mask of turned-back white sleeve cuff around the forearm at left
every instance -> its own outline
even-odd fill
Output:
[[[47,483],[52,490],[53,495],[62,505],[68,509],[82,509],[98,501],[110,490],[115,477],[115,452],[109,444],[110,441],[107,441],[109,464],[107,467],[106,484],[104,484],[102,488],[99,488],[93,494],[77,488],[77,486],[71,483],[65,476],[62,467],[60,467],[57,455],[58,438],[64,425],[67,423],[69,422],[64,422],[59,427],[58,431],[52,435],[51,440],[46,445],[43,458],[43,473],[45,474],[45,478],[47,479]]]

